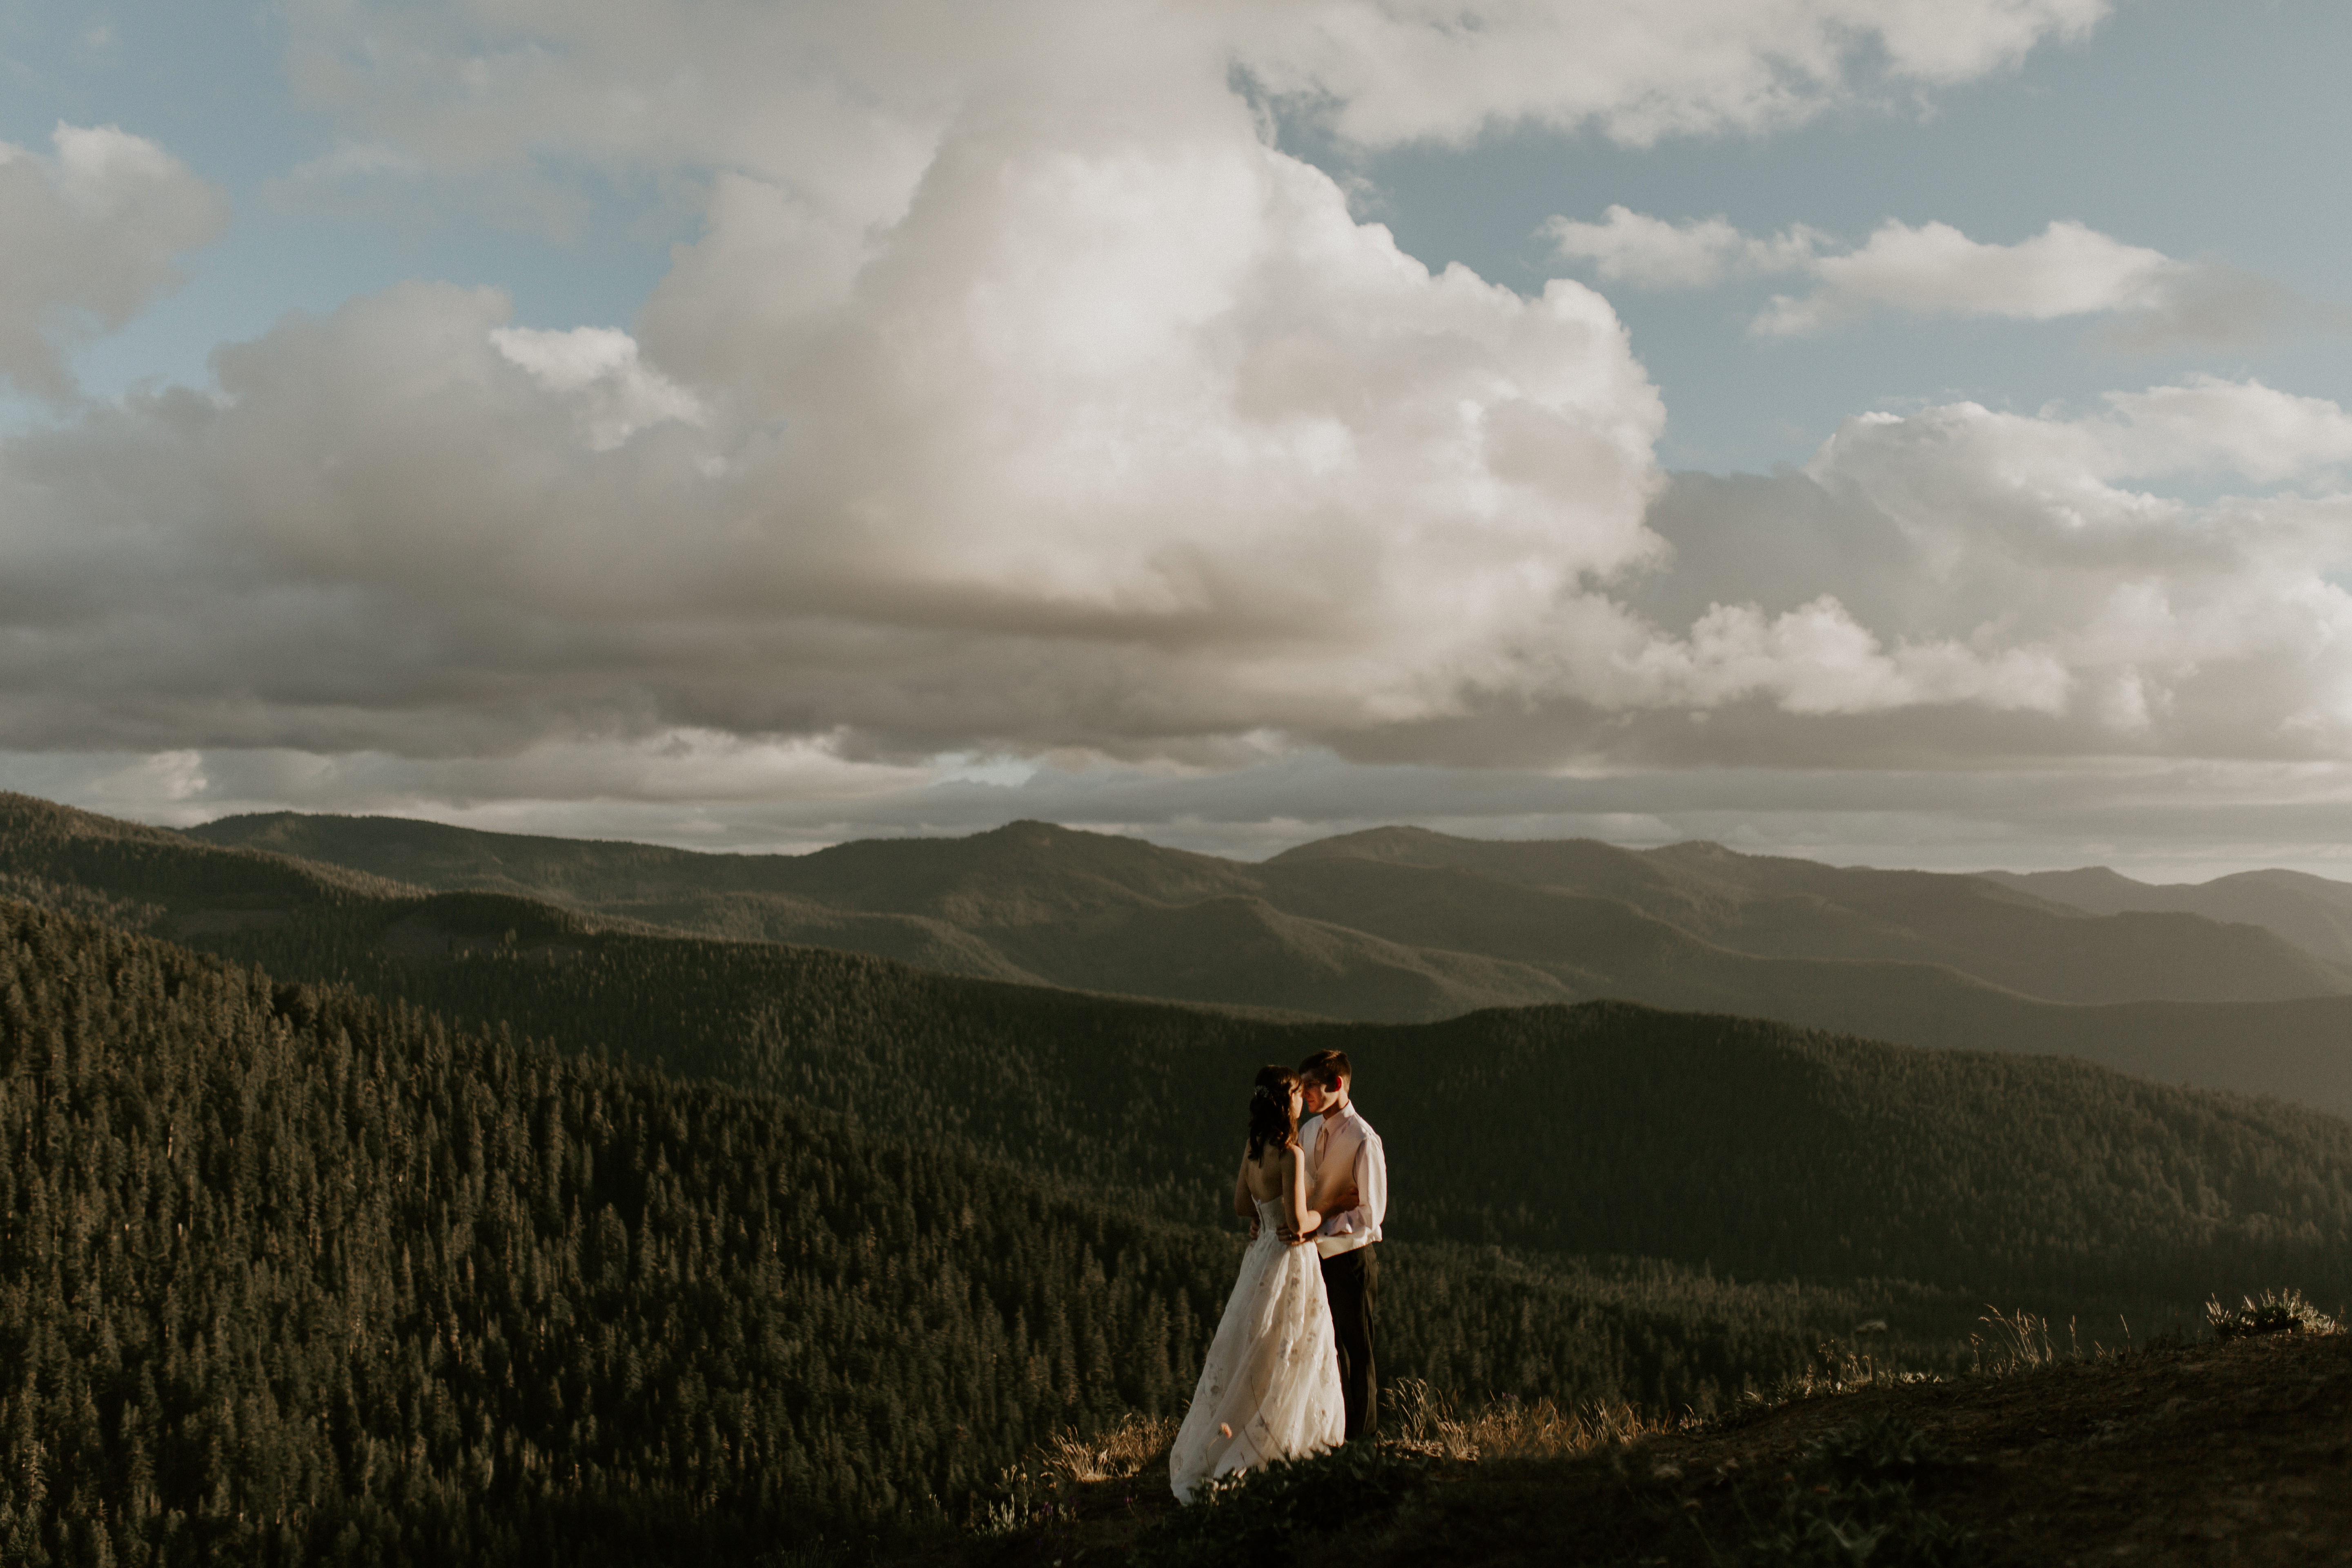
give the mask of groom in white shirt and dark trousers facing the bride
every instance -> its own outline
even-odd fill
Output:
[[[1308,1119],[1298,1145],[1308,1152],[1308,1208],[1324,1213],[1315,1232],[1324,1295],[1338,1338],[1338,1385],[1348,1406],[1348,1439],[1371,1436],[1381,1380],[1371,1366],[1371,1302],[1381,1284],[1376,1244],[1388,1218],[1388,1154],[1381,1135],[1348,1098],[1355,1070],[1345,1051],[1317,1051],[1298,1063]]]

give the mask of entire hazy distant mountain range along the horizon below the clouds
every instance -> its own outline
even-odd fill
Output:
[[[1712,844],[1623,851],[1392,827],[1247,865],[1014,823],[967,839],[713,856],[292,813],[176,835],[5,797],[0,891],[12,884],[52,886],[40,900],[56,907],[148,910],[129,924],[188,940],[440,889],[541,900],[586,929],[783,940],[1324,1018],[1628,999],[2074,1056],[2352,1114],[2345,966],[2267,926],[2091,914],[1994,877],[1839,870]],[[477,940],[426,919],[383,940]]]

